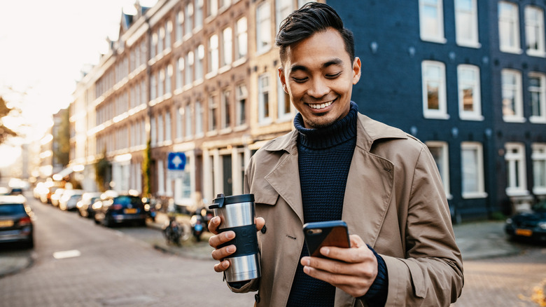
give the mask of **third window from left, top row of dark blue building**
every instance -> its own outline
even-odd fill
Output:
[[[517,4],[506,1],[498,3],[498,35],[500,51],[521,53]]]

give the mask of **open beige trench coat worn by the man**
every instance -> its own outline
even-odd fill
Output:
[[[386,262],[386,306],[449,306],[461,294],[463,264],[440,175],[426,145],[358,114],[356,148],[342,219]],[[262,277],[233,292],[258,290],[256,306],[286,306],[304,238],[297,131],[257,151],[245,192],[255,196]],[[335,306],[366,306],[336,289]]]

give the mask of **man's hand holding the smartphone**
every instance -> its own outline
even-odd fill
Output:
[[[353,297],[366,294],[377,276],[377,258],[357,235],[349,236],[351,248],[322,247],[328,259],[303,257],[303,271],[338,287]]]

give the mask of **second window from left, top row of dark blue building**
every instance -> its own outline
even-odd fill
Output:
[[[455,0],[456,40],[460,46],[479,47],[477,0]]]

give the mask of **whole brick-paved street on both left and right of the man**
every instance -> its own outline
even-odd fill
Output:
[[[0,261],[32,254],[34,263],[0,278],[1,306],[253,306],[253,293],[231,293],[214,273],[205,242],[162,252],[154,248],[165,241],[157,229],[97,226],[28,196],[36,246],[2,248]],[[461,228],[457,233],[472,240]],[[452,306],[540,306],[531,296],[546,281],[546,245],[505,242],[503,233],[489,236],[521,252],[465,260],[465,287]],[[463,258],[469,247],[461,245]]]

